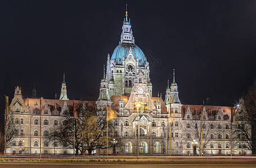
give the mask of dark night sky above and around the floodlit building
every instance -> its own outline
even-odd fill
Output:
[[[151,52],[153,96],[176,82],[182,104],[233,106],[256,77],[256,1],[1,1],[0,101],[14,95],[97,100],[128,3],[135,44]],[[3,115],[2,117],[3,118]]]

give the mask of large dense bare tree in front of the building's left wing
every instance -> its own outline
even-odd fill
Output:
[[[95,109],[90,108],[86,102],[78,103],[75,109],[78,118],[75,119],[71,108],[68,109],[69,115],[63,119],[60,126],[52,128],[50,140],[67,144],[67,148],[75,147],[75,153],[80,151],[83,155],[86,151],[91,154],[93,150],[104,148],[106,117],[96,118]]]

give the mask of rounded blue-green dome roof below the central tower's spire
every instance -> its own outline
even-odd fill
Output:
[[[140,48],[138,48],[135,44],[129,44],[129,43],[122,43],[116,46],[111,59],[115,59],[116,64],[123,64],[123,55],[124,59],[127,58],[127,53],[129,51],[129,48],[132,48],[132,52],[134,55],[135,60],[137,60],[138,57],[138,66],[145,66],[145,62],[147,61],[145,54],[142,52]]]

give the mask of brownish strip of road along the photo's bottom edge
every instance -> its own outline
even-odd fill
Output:
[[[255,167],[255,165],[246,165],[246,164],[44,164],[44,163],[37,163],[37,164],[27,164],[27,163],[17,163],[17,164],[10,164],[10,163],[1,163],[0,167],[8,167],[8,168],[42,168],[42,167],[53,167],[53,168],[65,168],[65,167],[104,167],[104,168],[117,168],[117,167],[134,167],[134,168],[146,168],[146,167],[154,167],[154,168],[165,168],[165,167],[185,167],[185,168],[197,168],[197,167],[216,167],[216,168],[241,168],[241,167]]]

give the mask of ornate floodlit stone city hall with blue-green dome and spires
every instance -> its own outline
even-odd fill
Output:
[[[235,154],[250,154],[246,148],[235,146],[235,142],[231,144],[236,109],[182,105],[174,72],[170,86],[168,80],[165,100],[152,97],[149,63],[134,44],[127,17],[126,12],[119,45],[111,58],[107,55],[106,72],[104,67],[96,101],[97,115],[106,115],[107,105],[118,114],[110,121],[115,127],[111,137],[118,142],[110,145],[108,152],[137,153],[138,148],[140,153],[188,155],[199,153],[199,147],[202,147],[204,154],[230,154],[231,148]],[[17,130],[14,140],[8,144],[7,153],[39,153],[40,144],[42,153],[73,153],[63,144],[47,140],[48,132],[63,121],[65,109],[72,104],[73,101],[68,99],[65,76],[59,100],[23,99],[21,88],[17,86],[9,111]],[[193,140],[196,145],[192,144]]]

